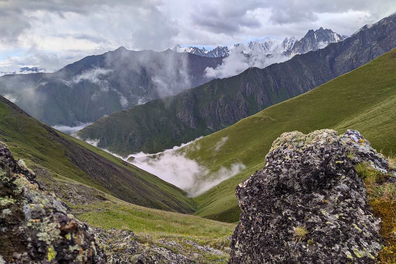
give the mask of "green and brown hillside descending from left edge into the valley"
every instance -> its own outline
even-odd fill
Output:
[[[191,213],[185,192],[84,141],[55,131],[0,96],[0,141],[32,169],[47,170],[124,201]]]

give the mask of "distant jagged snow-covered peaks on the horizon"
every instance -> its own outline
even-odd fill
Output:
[[[347,38],[347,36],[339,35],[331,29],[323,29],[323,27],[317,30],[309,30],[307,34],[300,40],[295,37],[285,38],[283,41],[275,38],[266,38],[263,41],[251,41],[248,44],[234,44],[231,47],[217,46],[212,50],[207,50],[205,47],[202,49],[198,47],[181,47],[177,44],[171,47],[171,50],[177,52],[188,52],[205,57],[224,57],[230,55],[230,53],[243,52],[245,54],[254,53],[283,53],[284,55],[291,56],[294,54],[303,54],[311,50],[317,50],[321,47],[325,47],[331,42],[339,42]]]

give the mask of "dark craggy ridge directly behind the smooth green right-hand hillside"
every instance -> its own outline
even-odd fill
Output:
[[[305,93],[396,47],[396,14],[341,42],[264,69],[215,79],[178,95],[115,112],[77,132],[121,155],[156,153],[209,135]],[[303,107],[303,106],[301,106]]]

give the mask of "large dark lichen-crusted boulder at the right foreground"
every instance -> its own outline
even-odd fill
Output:
[[[359,132],[284,133],[265,161],[235,190],[242,212],[230,264],[375,263],[380,220],[354,165],[389,167]]]

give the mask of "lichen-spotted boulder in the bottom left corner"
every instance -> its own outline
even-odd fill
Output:
[[[0,263],[105,263],[91,228],[0,142]]]

